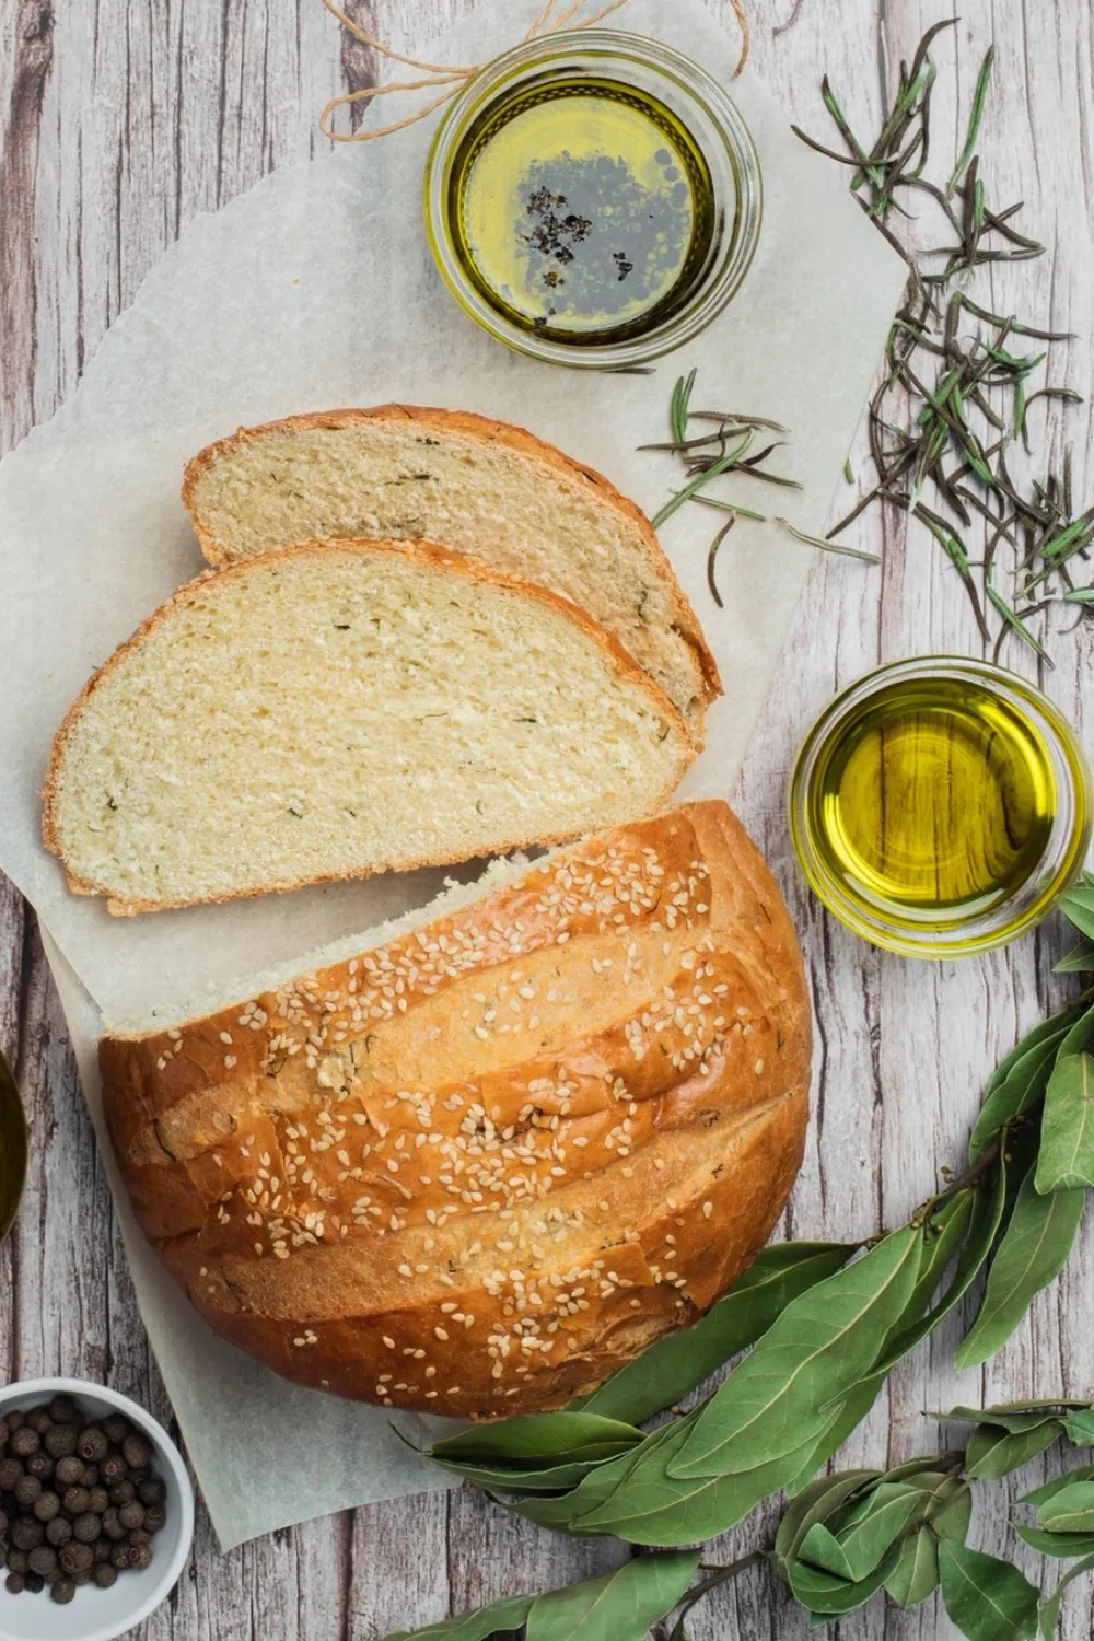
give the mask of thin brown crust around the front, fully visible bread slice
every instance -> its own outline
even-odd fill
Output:
[[[261,573],[269,565],[284,563],[289,560],[307,558],[307,556],[326,556],[331,550],[356,555],[361,558],[379,558],[394,556],[405,558],[420,565],[431,565],[446,573],[456,576],[464,576],[469,581],[489,583],[497,587],[505,587],[510,592],[520,594],[535,604],[546,606],[548,609],[564,614],[576,627],[592,638],[597,648],[610,660],[612,666],[630,681],[638,689],[645,691],[650,706],[654,712],[664,717],[682,738],[686,753],[677,760],[671,778],[666,781],[664,789],[656,796],[654,802],[650,804],[650,814],[656,812],[663,804],[666,804],[672,793],[676,791],[684,771],[692,763],[692,760],[702,750],[700,730],[691,725],[679,707],[666,696],[661,686],[650,678],[650,674],[628,655],[622,643],[613,637],[613,633],[605,632],[586,610],[571,604],[569,599],[561,597],[558,592],[551,592],[548,587],[533,586],[530,583],[513,581],[510,576],[502,576],[499,571],[490,569],[487,565],[481,565],[476,560],[464,558],[461,553],[451,553],[444,546],[438,546],[433,542],[358,542],[348,537],[333,537],[325,542],[303,542],[300,546],[280,548],[274,553],[261,553],[251,558],[241,558],[236,563],[228,565],[220,571],[203,571],[194,581],[167,599],[166,604],[144,620],[131,638],[118,645],[115,653],[103,661],[97,673],[89,678],[82,691],[69,707],[61,729],[54,735],[52,748],[49,753],[49,763],[46,768],[46,781],[43,788],[43,843],[49,853],[57,855],[64,865],[67,886],[74,894],[107,894],[107,911],[115,917],[133,917],[139,912],[167,911],[177,906],[192,906],[194,901],[187,899],[159,899],[159,901],[123,901],[112,896],[112,891],[105,884],[97,884],[82,878],[74,871],[64,857],[64,840],[61,837],[59,820],[57,820],[57,804],[59,804],[59,786],[62,779],[64,755],[72,735],[75,724],[79,722],[80,712],[85,704],[93,696],[116,666],[130,655],[138,650],[144,638],[162,622],[169,620],[175,609],[184,607],[197,597],[202,597],[210,584],[220,584],[226,579],[243,579],[249,574]],[[536,848],[548,847],[551,843],[569,842],[572,832],[558,834],[538,834],[535,837],[515,837],[508,842],[507,848]],[[294,883],[279,884],[277,889],[266,889],[262,886],[239,888],[233,893],[210,896],[212,901],[233,901],[248,899],[254,894],[262,893],[285,893],[290,889],[303,888],[312,883],[333,883],[344,881],[348,876],[369,878],[376,876],[379,871],[412,871],[418,866],[444,866],[454,865],[466,858],[466,850],[456,848],[451,853],[438,853],[428,858],[407,857],[405,860],[382,862],[376,866],[364,866],[356,873],[328,873],[318,878],[300,878]]]

